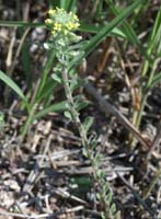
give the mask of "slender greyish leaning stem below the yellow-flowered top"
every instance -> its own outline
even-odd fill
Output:
[[[81,120],[79,118],[79,113],[76,110],[74,101],[72,97],[72,92],[70,90],[69,77],[68,77],[68,72],[66,69],[67,68],[65,67],[64,70],[61,71],[61,76],[62,76],[65,93],[67,96],[68,104],[70,106],[70,113],[71,113],[74,124],[77,125],[79,134],[81,136],[82,145],[83,145],[83,148],[85,149],[87,158],[90,160],[91,165],[93,168],[93,177],[94,177],[96,184],[100,185],[100,187],[101,187],[100,195],[101,195],[101,204],[103,206],[104,214],[106,216],[108,215],[110,216],[108,218],[114,219],[114,218],[116,218],[115,217],[116,212],[112,211],[112,209],[111,209],[112,203],[106,201],[105,195],[107,197],[107,194],[104,194],[107,192],[108,192],[108,194],[111,194],[110,184],[107,181],[104,181],[103,176],[100,176],[100,174],[97,174],[99,173],[99,161],[96,161],[95,157],[93,155],[93,151],[91,151],[91,147],[89,147],[91,145],[91,142],[89,142],[89,140],[88,140],[87,131],[85,131],[83,125],[81,124]],[[107,191],[105,189],[105,186],[107,187]]]

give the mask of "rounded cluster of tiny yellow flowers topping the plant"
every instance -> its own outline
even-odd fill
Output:
[[[49,10],[48,14],[49,19],[45,20],[45,23],[53,35],[59,33],[68,35],[80,25],[78,16],[72,12],[67,13],[64,9],[56,8],[56,10]]]

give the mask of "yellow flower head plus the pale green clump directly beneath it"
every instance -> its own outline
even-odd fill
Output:
[[[46,48],[55,48],[56,50],[69,51],[70,45],[78,43],[81,37],[73,33],[80,25],[78,16],[64,9],[48,11],[49,19],[45,20],[48,30],[51,33],[50,41],[45,44]],[[71,49],[70,49],[71,50]]]

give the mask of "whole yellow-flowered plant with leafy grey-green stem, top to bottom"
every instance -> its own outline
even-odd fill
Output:
[[[87,117],[83,123],[80,119],[79,105],[82,105],[82,102],[80,99],[78,99],[78,96],[73,96],[73,84],[78,87],[80,83],[78,76],[70,73],[69,68],[70,61],[76,56],[79,56],[81,53],[83,53],[81,51],[82,44],[79,43],[81,37],[74,33],[80,25],[79,20],[72,12],[67,13],[64,9],[58,8],[56,8],[56,10],[49,10],[48,14],[49,19],[47,19],[45,23],[49,28],[51,36],[45,46],[46,48],[55,49],[57,57],[57,64],[54,68],[53,79],[64,85],[67,97],[67,111],[65,112],[65,115],[74,123],[81,137],[83,154],[91,161],[93,168],[93,178],[102,189],[100,189],[97,199],[105,206],[105,210],[102,212],[102,218],[106,218],[106,215],[115,215],[116,208],[112,201],[112,194],[108,182],[105,178],[105,174],[103,171],[99,170],[100,154],[95,154],[97,140],[88,136],[88,129],[92,125],[93,119],[91,117]]]

